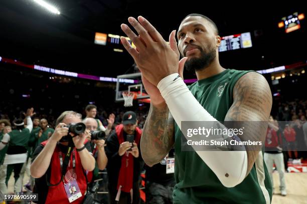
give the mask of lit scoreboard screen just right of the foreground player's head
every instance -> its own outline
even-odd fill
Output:
[[[219,51],[228,51],[233,49],[241,49],[252,47],[252,41],[250,32],[244,32],[241,34],[233,34],[229,36],[221,37],[221,45]]]

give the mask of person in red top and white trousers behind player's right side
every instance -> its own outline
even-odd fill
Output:
[[[264,153],[264,161],[268,168],[272,186],[274,189],[273,183],[273,164],[275,164],[278,174],[279,174],[279,189],[282,196],[286,196],[286,186],[284,179],[284,163],[283,163],[283,154],[282,148],[280,147],[280,136],[279,136],[279,127],[277,120],[274,120],[272,115],[269,117],[268,128],[266,131],[265,138],[265,153]],[[274,191],[274,190],[273,190]]]

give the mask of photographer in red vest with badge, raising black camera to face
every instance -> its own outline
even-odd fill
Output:
[[[77,112],[65,111],[58,117],[51,137],[33,153],[31,175],[37,178],[33,190],[39,193],[37,203],[83,202],[87,188],[85,170],[95,167],[86,143],[89,134]]]

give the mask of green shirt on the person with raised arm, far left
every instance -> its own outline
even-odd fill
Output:
[[[30,130],[28,128],[23,128],[21,131],[14,129],[9,134],[9,146],[24,146],[28,148],[28,142],[30,139]]]

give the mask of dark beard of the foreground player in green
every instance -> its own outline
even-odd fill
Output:
[[[205,52],[202,48],[199,47],[201,52],[200,57],[191,57],[185,63],[185,68],[188,71],[197,71],[202,70],[208,67],[211,62],[216,57],[216,50],[214,48],[210,48],[208,52]]]

